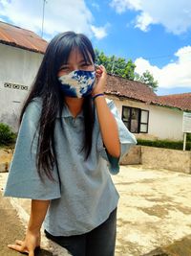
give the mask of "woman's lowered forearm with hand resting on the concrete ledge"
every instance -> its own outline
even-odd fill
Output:
[[[34,256],[34,249],[40,246],[40,228],[45,219],[50,200],[32,199],[31,216],[24,241],[16,240],[8,247],[19,252],[27,252]]]

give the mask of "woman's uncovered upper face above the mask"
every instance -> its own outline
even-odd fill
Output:
[[[91,55],[89,55],[91,62],[86,62],[83,55],[77,48],[71,51],[68,62],[63,64],[58,71],[58,78],[71,73],[74,70],[95,71],[95,65]]]

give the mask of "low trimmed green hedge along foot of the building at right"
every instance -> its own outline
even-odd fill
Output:
[[[138,145],[142,146],[150,146],[156,148],[165,148],[165,149],[172,149],[172,150],[180,150],[183,149],[183,142],[182,141],[171,141],[171,140],[143,140],[137,139]],[[186,151],[191,150],[191,141],[186,141]]]

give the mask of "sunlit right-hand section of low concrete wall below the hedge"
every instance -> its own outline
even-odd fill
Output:
[[[148,168],[191,174],[191,151],[141,146],[141,164]]]

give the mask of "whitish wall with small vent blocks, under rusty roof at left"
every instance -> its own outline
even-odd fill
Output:
[[[41,54],[0,43],[0,123],[7,123],[14,130],[17,129],[21,106],[42,58]],[[24,86],[5,87],[6,82]]]

